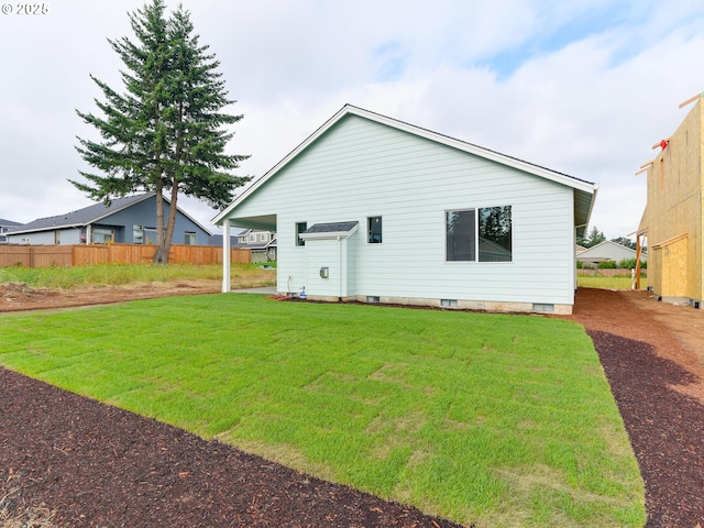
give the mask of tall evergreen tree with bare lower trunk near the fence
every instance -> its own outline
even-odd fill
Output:
[[[233,133],[223,128],[242,116],[223,108],[228,99],[220,65],[194,34],[183,7],[166,19],[163,0],[152,0],[129,13],[135,42],[108,41],[124,63],[125,92],[120,94],[91,76],[105,101],[96,100],[102,116],[77,110],[94,125],[102,142],[78,138],[76,150],[102,174],[80,172],[88,184],[70,180],[89,197],[107,204],[135,191],[156,193],[155,263],[168,262],[179,194],[195,196],[216,208],[232,200],[232,191],[249,177],[230,170],[244,155],[224,154]],[[170,193],[168,219],[163,193]]]

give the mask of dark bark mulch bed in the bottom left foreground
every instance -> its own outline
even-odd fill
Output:
[[[76,527],[459,526],[3,369],[0,469]]]

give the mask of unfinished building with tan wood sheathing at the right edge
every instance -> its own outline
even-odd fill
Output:
[[[638,235],[648,239],[648,285],[664,300],[704,300],[704,106],[701,98],[644,165],[648,201]]]

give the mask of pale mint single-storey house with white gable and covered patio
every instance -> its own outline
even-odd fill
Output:
[[[596,189],[348,105],[212,222],[277,233],[279,293],[570,314]]]

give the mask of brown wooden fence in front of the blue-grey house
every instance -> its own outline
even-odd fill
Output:
[[[252,251],[231,249],[231,262],[249,264]],[[150,264],[155,245],[77,244],[77,245],[0,245],[0,267],[89,266],[94,264]],[[219,245],[172,245],[168,262],[173,264],[222,264]]]

